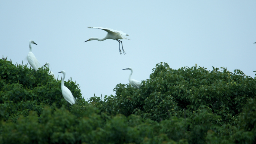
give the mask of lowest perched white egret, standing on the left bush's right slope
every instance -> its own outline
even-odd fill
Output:
[[[61,79],[61,91],[62,91],[62,95],[64,97],[64,99],[67,101],[67,103],[69,102],[71,105],[76,103],[76,98],[74,98],[74,96],[72,95],[71,91],[64,86],[64,79],[66,76],[66,72],[63,70],[59,73],[63,73],[63,78]],[[69,105],[68,105],[69,108]]]

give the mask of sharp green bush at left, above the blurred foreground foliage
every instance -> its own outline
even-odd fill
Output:
[[[7,58],[0,59],[0,119],[18,119],[19,115],[27,116],[30,110],[38,116],[44,105],[67,104],[61,93],[61,82],[48,75],[49,69],[39,68],[34,71],[27,65],[13,65]],[[80,89],[71,80],[65,82],[75,98],[82,99]]]

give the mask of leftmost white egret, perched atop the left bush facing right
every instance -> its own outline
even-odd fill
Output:
[[[37,71],[39,67],[41,67],[41,64],[39,63],[39,61],[37,61],[36,56],[31,52],[32,48],[31,48],[31,43],[37,45],[33,40],[29,41],[29,50],[30,52],[28,53],[27,59],[28,59],[28,63],[31,65],[31,67]]]

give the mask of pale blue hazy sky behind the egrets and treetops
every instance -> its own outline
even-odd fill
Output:
[[[255,77],[256,1],[0,1],[0,54],[27,64],[28,42],[41,64],[59,79],[66,71],[85,99],[115,95],[119,83],[149,79],[152,69],[167,62],[173,69],[195,64],[213,70],[227,67]],[[103,27],[123,31],[126,55],[116,40],[103,38]],[[85,43],[84,43],[85,42]],[[122,49],[122,48],[121,48]]]

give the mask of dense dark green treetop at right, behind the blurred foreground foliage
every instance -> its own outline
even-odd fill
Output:
[[[104,98],[103,111],[111,107],[111,113],[126,116],[140,114],[145,119],[161,121],[171,116],[193,117],[195,111],[206,108],[221,116],[217,123],[234,122],[247,102],[256,94],[256,81],[242,71],[234,74],[222,68],[183,67],[173,70],[167,63],[160,63],[153,69],[150,79],[142,82],[141,89],[118,84],[116,96]],[[94,99],[91,99],[94,101]],[[110,100],[110,101],[109,101]],[[100,99],[98,101],[100,102]]]

